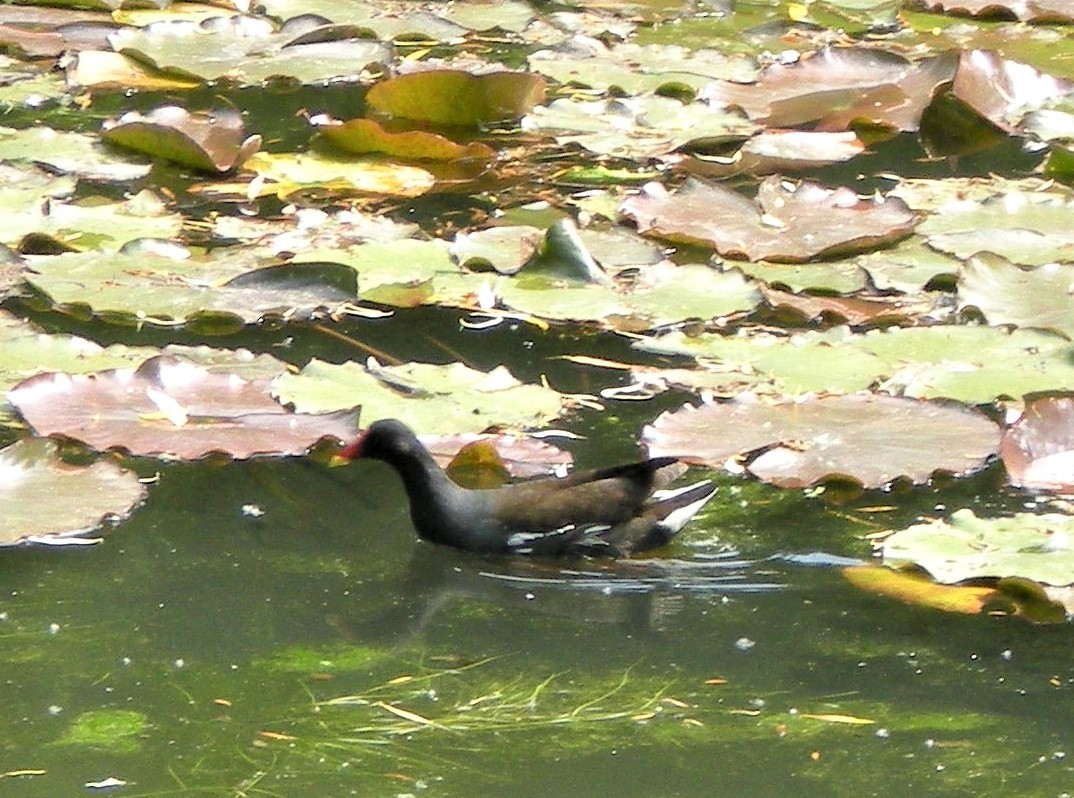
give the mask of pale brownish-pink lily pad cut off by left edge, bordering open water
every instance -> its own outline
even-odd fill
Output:
[[[83,536],[127,518],[145,498],[135,474],[107,460],[69,465],[57,449],[28,438],[0,450],[0,547],[97,542]]]

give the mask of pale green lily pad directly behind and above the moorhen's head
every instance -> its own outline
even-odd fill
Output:
[[[462,363],[383,366],[371,360],[314,359],[273,380],[273,395],[308,412],[361,406],[362,423],[398,418],[422,433],[482,432],[490,426],[545,426],[567,407],[550,388],[524,385],[505,367],[479,372]]]

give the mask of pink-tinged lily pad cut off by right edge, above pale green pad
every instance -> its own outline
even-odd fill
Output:
[[[1074,492],[1074,397],[1026,404],[1000,445],[1011,482],[1033,490]]]

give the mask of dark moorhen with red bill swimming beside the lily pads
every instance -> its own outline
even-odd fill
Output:
[[[716,491],[708,480],[656,490],[684,470],[674,458],[468,490],[394,419],[371,424],[339,456],[390,465],[418,534],[476,552],[626,556],[667,543]]]

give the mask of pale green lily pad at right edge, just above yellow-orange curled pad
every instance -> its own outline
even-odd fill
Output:
[[[944,584],[1021,577],[1058,586],[1074,583],[1072,540],[1071,516],[1019,512],[984,519],[961,509],[884,538],[882,553],[885,563],[913,563]]]

